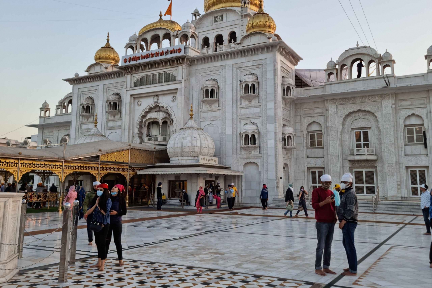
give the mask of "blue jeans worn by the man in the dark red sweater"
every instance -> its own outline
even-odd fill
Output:
[[[328,269],[330,267],[331,242],[333,241],[335,223],[316,222],[317,229],[317,252],[315,253],[315,270]],[[321,267],[321,260],[324,251],[324,265]]]

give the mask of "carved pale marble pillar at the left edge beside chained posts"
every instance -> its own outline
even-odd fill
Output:
[[[0,192],[0,243],[18,244],[21,200],[24,193]],[[0,283],[9,281],[19,270],[18,245],[0,244]],[[14,270],[4,270],[14,269]]]

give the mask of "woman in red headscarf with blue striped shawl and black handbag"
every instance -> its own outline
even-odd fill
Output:
[[[93,219],[96,222],[102,223],[102,230],[99,232],[95,232],[95,243],[98,247],[98,263],[90,266],[90,267],[99,267],[99,271],[105,271],[105,259],[107,257],[107,251],[105,247],[105,239],[108,234],[109,226],[110,226],[110,213],[111,210],[111,199],[110,193],[108,190],[108,184],[100,184],[98,186],[98,191],[96,192],[97,197],[95,197],[95,204],[92,208],[88,209],[86,214],[84,214],[84,218],[87,219],[88,215],[92,212]]]

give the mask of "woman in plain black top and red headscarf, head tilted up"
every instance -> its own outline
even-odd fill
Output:
[[[109,244],[111,243],[111,235],[114,233],[114,244],[117,250],[118,266],[123,266],[123,248],[121,247],[121,216],[126,215],[126,201],[121,193],[124,192],[124,187],[117,184],[111,189],[111,210],[110,210],[110,225],[108,235],[105,241],[105,247],[108,254]]]

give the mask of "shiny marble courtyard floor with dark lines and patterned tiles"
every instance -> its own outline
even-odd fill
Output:
[[[61,287],[432,286],[431,236],[423,235],[422,217],[416,215],[360,213],[356,229],[359,271],[356,276],[341,277],[347,261],[337,227],[330,265],[337,275],[314,273],[313,211],[311,218],[305,218],[304,212],[301,218],[285,218],[282,209],[205,212],[128,211],[122,232],[126,266],[115,265],[117,253],[111,242],[105,273],[89,268],[97,250],[94,242],[87,245],[86,229],[78,229],[77,262],[70,266],[70,283]],[[57,212],[28,215],[25,230],[38,234],[25,236],[18,266],[31,266],[0,287],[60,287],[55,282],[61,232],[52,229],[61,225],[61,217]],[[85,221],[79,220],[79,225]]]

